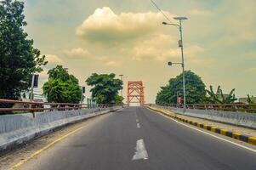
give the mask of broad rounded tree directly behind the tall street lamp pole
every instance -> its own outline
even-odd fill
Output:
[[[198,104],[204,102],[206,96],[205,84],[202,82],[201,77],[198,77],[192,71],[185,71],[185,91],[186,103]],[[156,95],[156,104],[176,104],[177,94],[183,98],[182,74],[171,78],[168,85],[161,88],[161,91]]]

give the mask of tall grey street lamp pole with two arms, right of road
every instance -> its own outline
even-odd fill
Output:
[[[181,49],[181,57],[182,57],[182,62],[181,63],[173,63],[173,62],[168,62],[168,65],[174,65],[174,64],[179,64],[182,66],[182,75],[183,75],[183,112],[185,113],[185,65],[184,65],[184,48],[183,48],[183,35],[182,35],[182,20],[188,20],[186,17],[174,17],[174,20],[179,20],[179,24],[172,24],[172,23],[167,23],[167,22],[162,22],[163,25],[170,25],[170,26],[178,26],[179,28],[179,35],[180,35],[180,40],[179,40],[179,47]]]

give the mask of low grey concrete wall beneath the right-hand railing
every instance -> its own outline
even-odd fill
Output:
[[[161,107],[154,105],[156,107]],[[179,108],[164,108],[170,109],[176,113],[184,114],[183,109]],[[229,123],[236,126],[249,127],[256,129],[256,113],[244,113],[244,112],[233,112],[233,111],[213,111],[213,110],[196,110],[187,109],[185,114],[187,116],[195,116],[198,118],[208,119],[216,122]]]

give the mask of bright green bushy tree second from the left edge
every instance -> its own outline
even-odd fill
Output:
[[[43,84],[43,94],[48,102],[79,103],[82,90],[76,77],[70,75],[62,65],[49,70],[48,75],[48,82]]]

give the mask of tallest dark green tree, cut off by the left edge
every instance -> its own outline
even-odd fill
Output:
[[[43,71],[45,56],[27,39],[24,3],[0,2],[0,98],[19,99],[29,88],[32,73]]]

